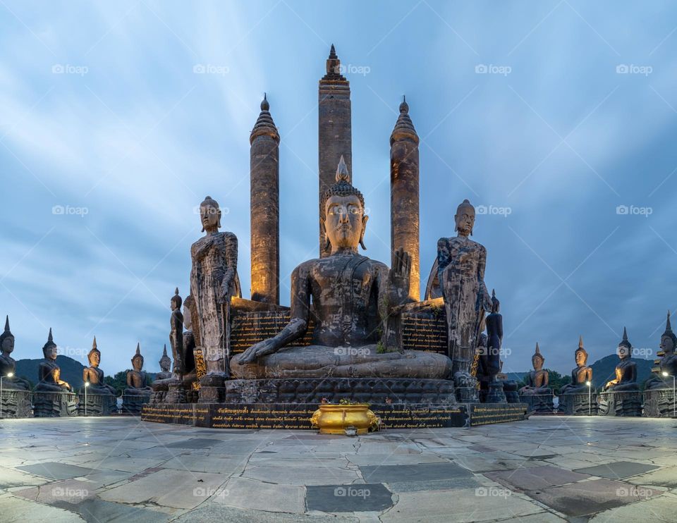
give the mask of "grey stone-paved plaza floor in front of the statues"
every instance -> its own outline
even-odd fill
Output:
[[[320,436],[0,421],[0,522],[677,521],[677,420]]]

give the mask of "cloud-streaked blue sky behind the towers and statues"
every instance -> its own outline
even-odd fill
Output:
[[[406,94],[422,139],[422,283],[468,198],[487,210],[474,239],[501,300],[504,369],[529,368],[538,341],[568,372],[579,334],[592,362],[623,326],[650,356],[677,307],[677,6],[331,6],[0,2],[0,313],[16,357],[41,357],[51,326],[83,362],[96,334],[107,374],[138,341],[156,371],[205,195],[240,240],[249,296],[248,137],[264,92],[281,135],[288,304],[288,275],[317,256],[317,80],[332,42],[368,256],[390,259],[389,135]]]

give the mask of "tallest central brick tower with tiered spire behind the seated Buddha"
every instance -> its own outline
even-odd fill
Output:
[[[319,80],[319,203],[322,194],[336,181],[336,166],[343,156],[353,173],[353,135],[350,125],[350,83],[341,75],[341,61],[331,44],[327,74]],[[352,179],[348,180],[352,183]],[[322,209],[319,209],[320,214]],[[319,217],[320,214],[317,216]],[[319,224],[318,224],[319,226]],[[319,232],[319,256],[329,255],[326,238]]]

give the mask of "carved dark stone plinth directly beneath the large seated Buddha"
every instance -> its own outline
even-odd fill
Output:
[[[361,403],[392,402],[426,405],[456,405],[453,382],[441,379],[300,378],[235,379],[226,381],[219,402],[310,403],[323,398],[331,403],[350,400]],[[200,402],[202,390],[200,390]],[[207,402],[210,403],[210,402]]]

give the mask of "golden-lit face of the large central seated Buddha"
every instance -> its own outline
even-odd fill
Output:
[[[331,247],[357,249],[368,218],[360,199],[355,195],[331,196],[324,211],[324,231]]]

